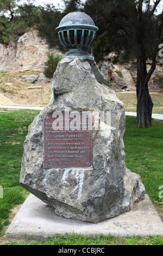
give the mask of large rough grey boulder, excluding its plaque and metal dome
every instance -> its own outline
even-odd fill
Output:
[[[92,112],[92,168],[44,167],[43,114],[65,108]],[[140,176],[125,166],[125,127],[123,102],[95,62],[62,59],[54,74],[51,101],[28,127],[20,184],[65,218],[98,223],[130,211],[145,198],[145,187]]]

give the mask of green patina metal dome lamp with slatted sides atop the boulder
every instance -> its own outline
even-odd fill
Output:
[[[67,14],[56,28],[61,44],[69,50],[66,57],[92,58],[86,50],[93,44],[98,27],[81,11]]]

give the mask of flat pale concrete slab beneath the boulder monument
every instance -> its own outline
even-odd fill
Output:
[[[132,211],[97,224],[59,217],[47,204],[30,194],[9,225],[6,236],[46,239],[65,233],[84,236],[163,236],[163,223],[147,194],[145,200],[135,204]]]

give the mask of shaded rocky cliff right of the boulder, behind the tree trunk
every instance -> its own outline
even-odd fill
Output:
[[[147,70],[151,68],[152,62],[148,60]],[[110,81],[111,88],[116,92],[135,91],[137,68],[135,62],[130,63],[112,63],[112,56],[106,56],[104,61],[98,64],[103,75]],[[149,90],[161,90],[162,83],[159,81],[159,75],[163,75],[163,59],[158,59],[156,69],[148,83]]]

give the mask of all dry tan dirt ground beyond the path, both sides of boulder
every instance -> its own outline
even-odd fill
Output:
[[[38,77],[42,71],[34,70],[21,70],[21,71],[3,71],[0,72],[0,105],[17,105],[17,106],[39,106],[45,107],[48,105],[51,97],[51,87],[53,78],[46,78],[45,82],[35,81],[28,83],[24,79],[23,75],[37,75]],[[36,87],[36,88],[32,88]],[[114,88],[112,88],[114,89]],[[163,93],[162,88],[149,88],[150,93],[157,93],[158,100],[162,108],[162,101],[160,97]],[[118,98],[124,102],[125,107],[135,109],[136,107],[136,88],[133,91],[122,91],[117,93]],[[133,95],[132,95],[133,94]],[[160,97],[159,97],[160,94]],[[130,95],[130,96],[129,96]],[[122,98],[122,99],[121,99]],[[154,102],[154,106],[158,105],[158,102]]]

